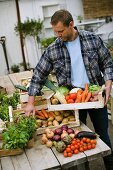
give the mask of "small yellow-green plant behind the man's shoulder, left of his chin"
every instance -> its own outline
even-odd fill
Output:
[[[41,40],[42,47],[47,48],[55,39],[56,39],[56,37],[42,39]]]

